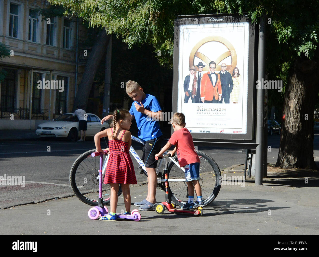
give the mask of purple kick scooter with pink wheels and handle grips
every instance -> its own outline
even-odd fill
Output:
[[[94,152],[91,154],[92,157],[96,157],[100,155],[100,179],[99,179],[99,199],[98,199],[98,206],[92,207],[88,211],[88,216],[90,219],[98,219],[102,216],[108,214],[108,208],[103,205],[103,198],[102,198],[102,165],[103,165],[103,155],[107,155],[108,151]],[[130,219],[134,221],[139,221],[141,219],[141,214],[138,212],[137,209],[131,211],[131,214],[116,214],[117,218],[122,219]]]

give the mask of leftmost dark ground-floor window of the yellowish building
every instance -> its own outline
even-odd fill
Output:
[[[8,74],[1,83],[1,111],[14,113],[16,95],[16,70],[5,70]]]

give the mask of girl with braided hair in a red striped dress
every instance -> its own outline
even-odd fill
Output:
[[[115,110],[113,114],[113,128],[105,129],[94,136],[96,151],[102,152],[100,138],[107,136],[109,142],[109,158],[106,166],[104,184],[111,187],[111,209],[108,215],[100,220],[116,221],[117,193],[121,184],[125,214],[130,214],[131,195],[130,184],[137,184],[132,159],[130,157],[131,133],[128,131],[132,124],[128,110]]]

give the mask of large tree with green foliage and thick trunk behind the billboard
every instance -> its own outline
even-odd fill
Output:
[[[318,96],[318,1],[305,0],[50,0],[123,38],[129,47],[150,43],[159,62],[172,67],[176,15],[247,14],[252,22],[267,15],[268,79],[286,82],[277,166],[313,168],[313,118]],[[284,78],[283,65],[288,65]],[[308,114],[308,119],[307,115]]]

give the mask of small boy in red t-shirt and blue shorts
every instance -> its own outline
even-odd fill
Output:
[[[185,128],[185,116],[182,113],[174,113],[171,119],[174,133],[168,140],[167,144],[155,156],[162,157],[172,145],[175,145],[173,151],[169,151],[172,156],[177,153],[177,159],[180,167],[185,167],[185,179],[188,187],[188,202],[184,204],[182,209],[189,209],[204,205],[202,197],[202,188],[199,184],[199,157],[194,150],[193,137]],[[198,202],[194,202],[194,188]]]

